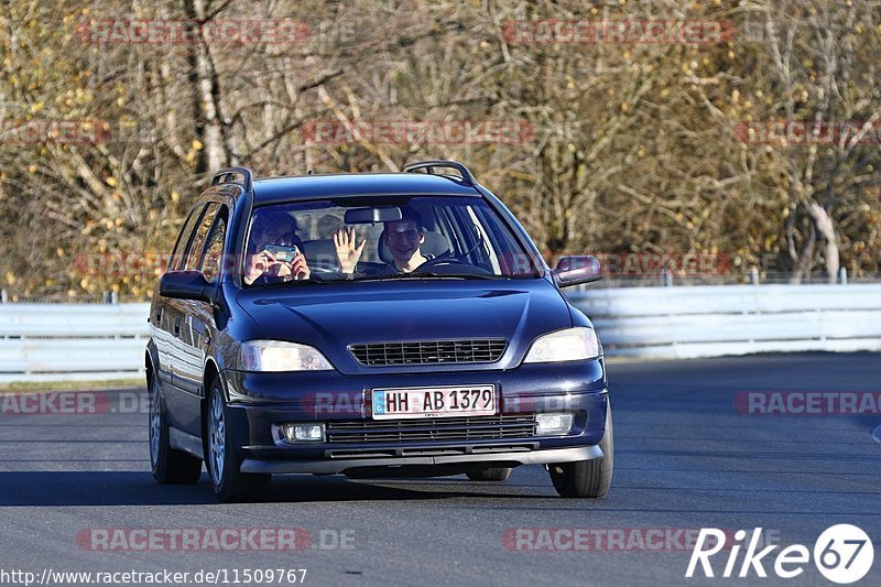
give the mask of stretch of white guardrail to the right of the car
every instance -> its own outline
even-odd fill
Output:
[[[609,356],[881,350],[881,284],[585,289],[569,297]]]

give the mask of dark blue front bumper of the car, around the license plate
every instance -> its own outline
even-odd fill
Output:
[[[605,433],[608,402],[602,359],[521,366],[508,371],[359,377],[224,371],[224,379],[229,394],[227,427],[241,456],[243,472],[338,474],[360,468],[410,467],[455,471],[469,465],[515,467],[602,457],[597,446]],[[391,435],[388,428],[373,434],[378,422],[371,414],[372,389],[478,383],[496,387],[498,418],[573,413],[572,432],[565,436],[539,436],[534,428],[520,427],[512,433],[512,428],[501,425],[499,430],[503,432],[492,437],[485,431],[470,430],[470,422],[461,424],[458,432],[450,432],[454,418],[426,418],[418,425],[436,431],[414,435],[412,426],[402,424]],[[475,421],[478,428],[486,425],[479,418]],[[279,425],[290,422],[324,422],[328,430],[337,423],[365,424],[370,430],[357,442],[328,434],[326,442],[290,444],[278,433]],[[469,430],[461,432],[464,428]]]

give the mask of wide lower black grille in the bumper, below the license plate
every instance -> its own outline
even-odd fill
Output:
[[[535,415],[358,420],[327,422],[327,442],[396,443],[420,441],[485,441],[535,436]]]

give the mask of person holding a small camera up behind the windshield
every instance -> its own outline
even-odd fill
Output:
[[[309,267],[303,254],[303,240],[296,235],[296,219],[283,211],[258,211],[255,216],[248,239],[244,283],[252,285],[309,279]],[[270,244],[296,247],[300,252],[290,261],[279,261],[265,249]]]

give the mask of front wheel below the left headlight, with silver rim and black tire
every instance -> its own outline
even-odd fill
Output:
[[[219,413],[218,413],[219,410]],[[229,409],[224,398],[219,377],[211,382],[206,414],[206,465],[211,477],[211,486],[217,498],[225,503],[254,501],[263,497],[272,482],[271,475],[241,472],[241,455],[232,443],[229,428]],[[217,420],[222,416],[222,420]],[[219,423],[222,422],[220,426]],[[222,438],[222,445],[220,439]]]

